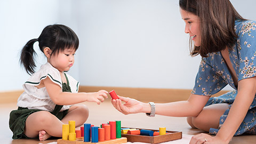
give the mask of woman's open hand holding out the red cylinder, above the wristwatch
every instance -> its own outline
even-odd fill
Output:
[[[118,95],[119,99],[112,99],[112,105],[121,113],[128,115],[128,114],[135,114],[135,113],[141,113],[142,112],[142,102],[135,100],[135,99],[130,99],[130,98],[125,98],[121,97]],[[124,105],[122,104],[122,101],[124,101]]]

